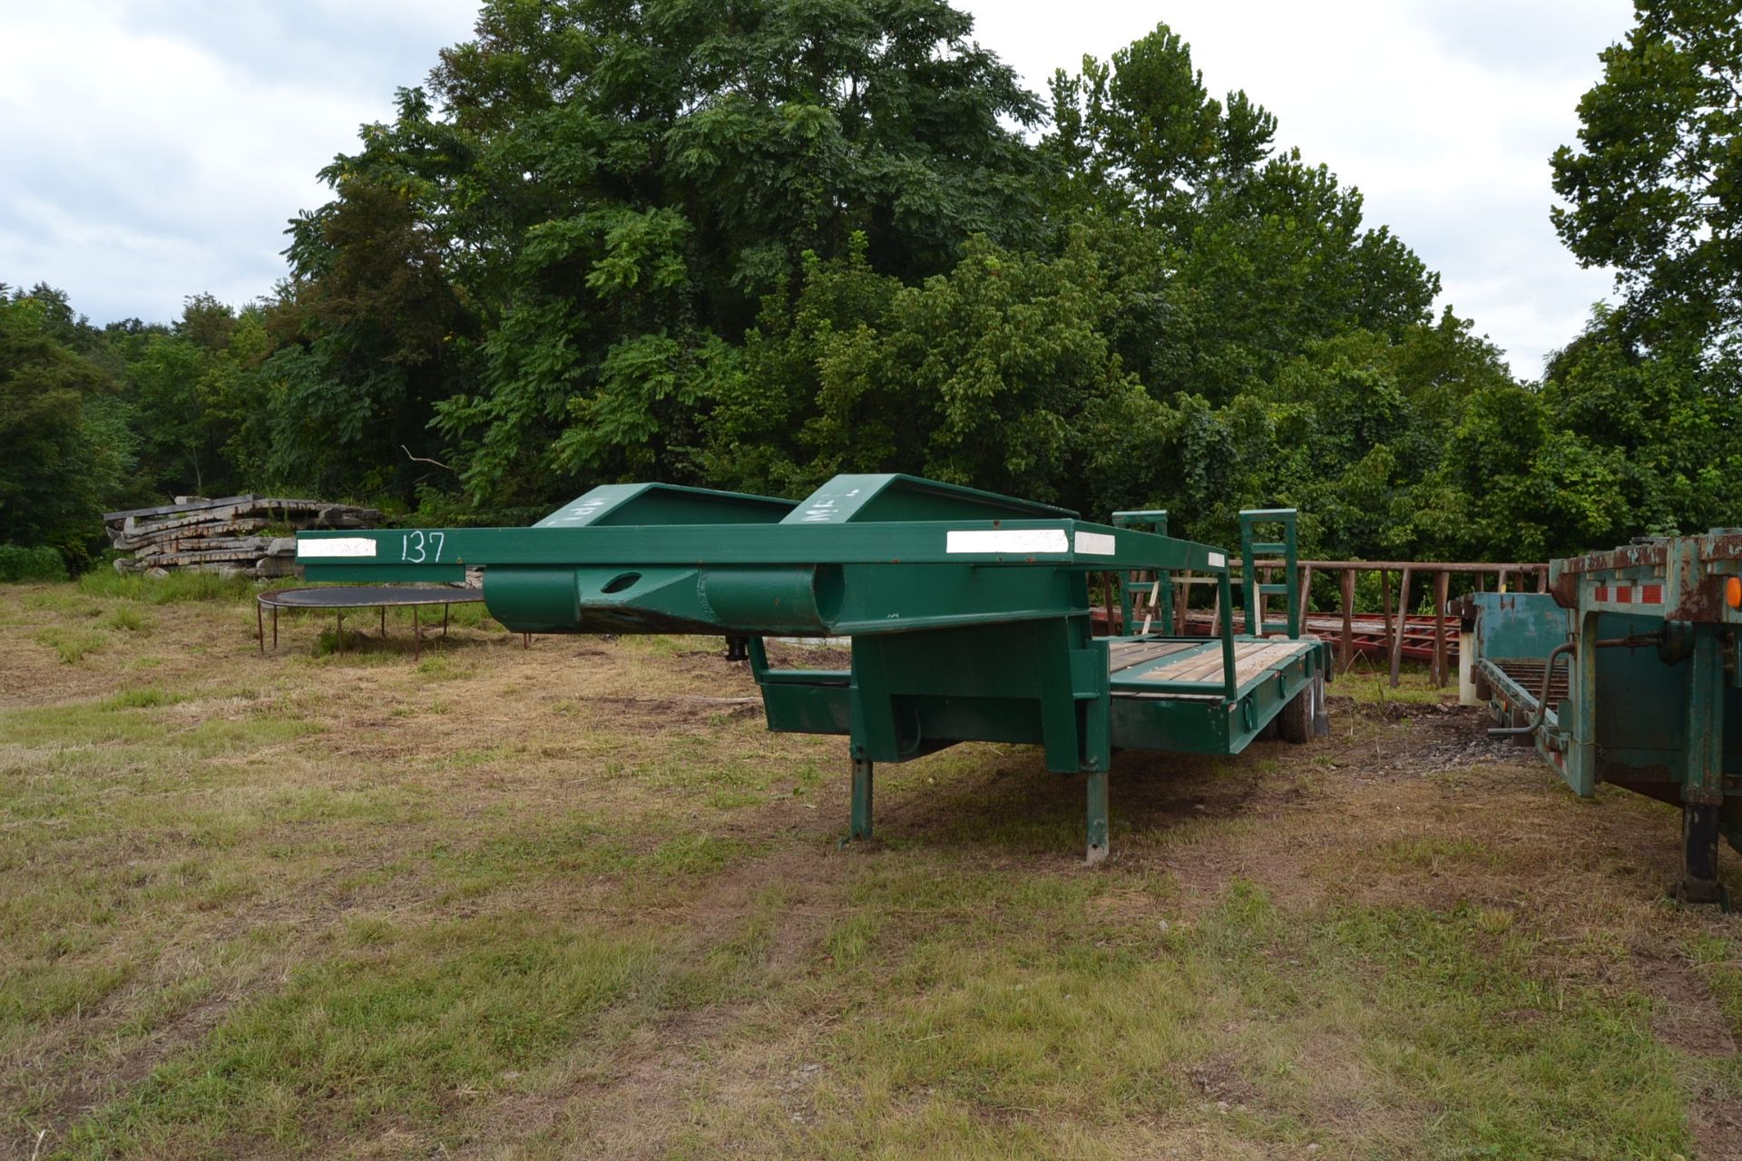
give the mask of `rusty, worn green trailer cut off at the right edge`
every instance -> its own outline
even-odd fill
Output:
[[[1721,902],[1742,849],[1742,533],[1554,560],[1547,594],[1474,594],[1474,695],[1582,797],[1611,783],[1681,808],[1674,895]]]

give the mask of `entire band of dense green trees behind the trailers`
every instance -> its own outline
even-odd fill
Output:
[[[1165,26],[1026,92],[948,0],[491,0],[322,171],[289,277],[94,329],[0,299],[0,541],[296,489],[524,519],[899,470],[1338,557],[1742,524],[1739,0],[1637,0],[1577,150],[1624,301],[1517,381]],[[23,470],[19,465],[31,465]]]

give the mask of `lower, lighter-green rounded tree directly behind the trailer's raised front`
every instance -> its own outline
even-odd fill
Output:
[[[1092,416],[1143,397],[1103,331],[1111,306],[1082,240],[1047,258],[976,237],[913,287],[874,273],[862,249],[817,261],[794,320],[772,312],[747,345],[707,465],[777,491],[915,472],[1087,507]],[[779,451],[742,453],[758,446]]]

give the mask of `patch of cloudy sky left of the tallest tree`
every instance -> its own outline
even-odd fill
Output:
[[[99,322],[284,275],[315,172],[463,40],[474,0],[71,3],[0,14],[0,280]],[[413,64],[415,61],[415,64]]]

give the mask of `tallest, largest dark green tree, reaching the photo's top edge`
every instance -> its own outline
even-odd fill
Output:
[[[862,233],[873,268],[913,280],[970,233],[1036,232],[1017,127],[1038,103],[970,28],[944,0],[488,3],[434,99],[402,94],[298,223],[312,322],[287,397],[352,461],[376,451],[355,435],[371,406],[415,419],[429,399],[496,501],[697,479],[726,346],[803,252]],[[334,237],[347,218],[380,225]],[[348,252],[430,282],[383,301],[340,277]],[[439,324],[415,352],[375,322],[408,313]],[[413,366],[439,390],[401,386]],[[378,406],[395,395],[413,406]]]

